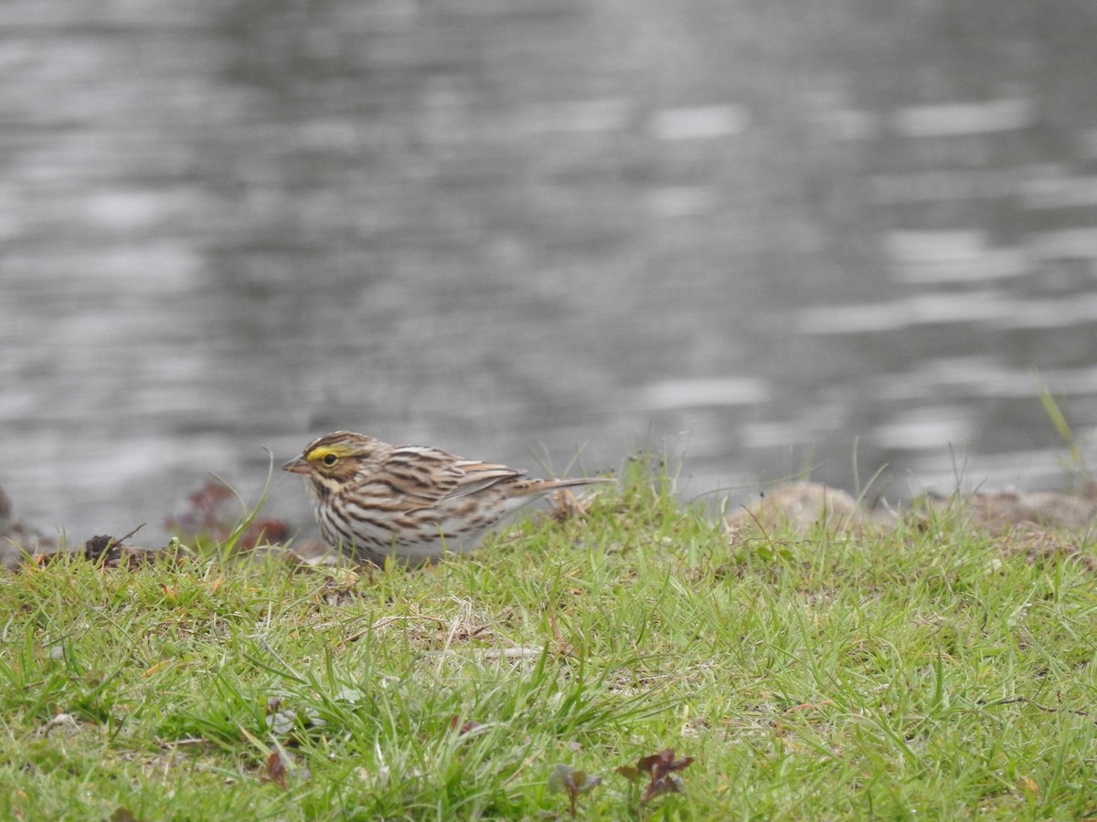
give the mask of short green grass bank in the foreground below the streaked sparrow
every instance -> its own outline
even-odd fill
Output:
[[[1097,813],[1081,562],[960,517],[732,546],[626,475],[420,572],[0,578],[0,818],[567,819],[557,764],[581,819]],[[615,768],[667,747],[642,803]]]

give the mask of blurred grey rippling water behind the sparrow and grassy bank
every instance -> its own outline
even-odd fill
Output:
[[[352,427],[687,493],[1054,484],[1097,12],[9,0],[0,487],[73,538]],[[272,513],[305,522],[295,478]]]

